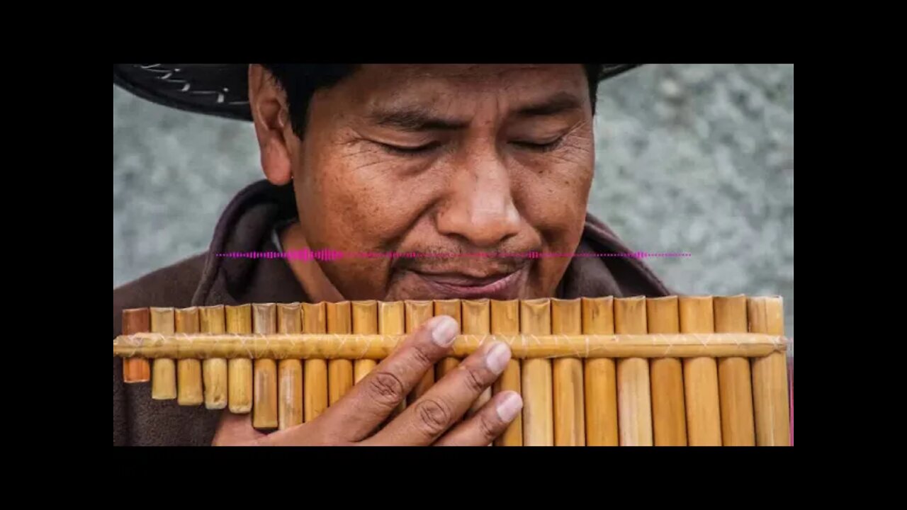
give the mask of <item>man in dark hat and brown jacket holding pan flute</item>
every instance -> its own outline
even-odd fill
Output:
[[[586,212],[597,85],[628,68],[114,66],[114,82],[142,97],[253,122],[267,180],[229,204],[206,253],[114,289],[113,335],[122,309],[153,306],[667,295],[632,257],[513,256],[629,252]],[[219,256],[322,249],[423,256]],[[503,344],[484,346],[392,416],[444,358],[452,320],[429,321],[316,420],[269,435],[248,415],[153,401],[147,387],[122,383],[115,358],[113,443],[486,445],[520,413],[520,396],[502,392],[460,418],[506,365]]]

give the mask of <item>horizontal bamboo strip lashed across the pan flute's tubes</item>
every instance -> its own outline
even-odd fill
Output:
[[[113,338],[122,358],[384,359],[406,335],[162,335]],[[677,335],[459,335],[451,355],[465,358],[485,342],[502,341],[512,358],[761,358],[784,352],[786,339],[760,333]]]

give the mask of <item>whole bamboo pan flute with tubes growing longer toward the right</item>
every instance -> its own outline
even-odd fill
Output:
[[[127,383],[180,406],[315,419],[434,315],[460,335],[409,401],[483,342],[510,345],[473,405],[514,390],[522,416],[496,446],[789,446],[779,297],[445,299],[127,309],[113,356]],[[405,406],[403,402],[401,406]]]

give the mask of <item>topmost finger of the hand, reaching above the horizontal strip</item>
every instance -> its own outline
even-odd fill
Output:
[[[427,370],[444,358],[458,331],[453,318],[426,322],[319,417],[320,427],[342,441],[359,441],[385,421]]]

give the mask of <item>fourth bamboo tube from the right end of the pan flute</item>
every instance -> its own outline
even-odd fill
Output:
[[[679,333],[677,296],[646,300],[649,333]],[[652,380],[652,432],[655,446],[687,446],[687,411],[683,396],[683,365],[678,358],[649,362]]]

